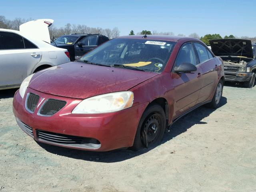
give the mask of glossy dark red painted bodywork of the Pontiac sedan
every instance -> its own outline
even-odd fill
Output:
[[[43,98],[65,100],[66,106],[53,116],[38,116],[37,110],[40,106],[33,114],[27,112],[24,107],[25,97],[22,100],[16,92],[13,102],[15,116],[33,129],[96,138],[102,144],[98,151],[106,151],[132,146],[140,117],[146,106],[156,98],[164,98],[168,102],[169,124],[196,104],[212,100],[217,83],[224,76],[220,58],[216,57],[201,64],[197,71],[191,74],[172,73],[182,44],[201,41],[172,36],[148,36],[148,39],[177,42],[161,74],[80,62],[62,64],[36,73],[27,93],[33,92]],[[199,73],[202,75],[198,75]],[[124,90],[134,93],[131,108],[106,114],[71,114],[84,98]]]

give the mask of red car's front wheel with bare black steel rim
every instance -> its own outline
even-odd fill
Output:
[[[131,150],[154,146],[162,141],[166,128],[166,116],[161,106],[152,104],[146,108],[136,131]]]

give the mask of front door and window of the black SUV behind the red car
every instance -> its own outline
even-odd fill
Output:
[[[79,59],[88,51],[97,47],[98,36],[85,37],[75,44],[75,59]]]

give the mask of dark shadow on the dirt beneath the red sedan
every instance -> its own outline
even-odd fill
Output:
[[[221,106],[223,106],[226,103],[227,103],[227,98],[222,97]],[[186,116],[180,118],[178,121],[172,124],[172,126],[170,127],[170,132],[167,132],[165,134],[161,144],[172,140],[172,138],[175,138],[176,136],[182,134],[183,132],[186,132],[186,130],[188,130],[190,127],[192,127],[195,124],[207,124],[207,122],[202,122],[202,119],[209,116],[212,112],[214,112],[214,110],[216,109],[211,109],[211,108],[202,106],[194,110],[192,113],[189,113]],[[42,148],[44,148],[46,151],[53,154],[58,154],[61,156],[66,156],[74,159],[96,161],[96,162],[107,162],[107,163],[124,161],[130,158],[133,158],[135,156],[144,154],[156,147],[154,146],[151,148],[145,148],[143,150],[140,150],[139,152],[134,152],[128,149],[119,149],[119,150],[113,150],[109,152],[93,152],[93,151],[74,150],[69,148],[51,146],[51,145],[43,144],[39,142],[38,144]]]

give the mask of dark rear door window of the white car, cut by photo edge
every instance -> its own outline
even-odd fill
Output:
[[[1,32],[0,38],[4,46],[0,46],[2,49],[24,49],[24,42],[22,36],[10,32]]]

